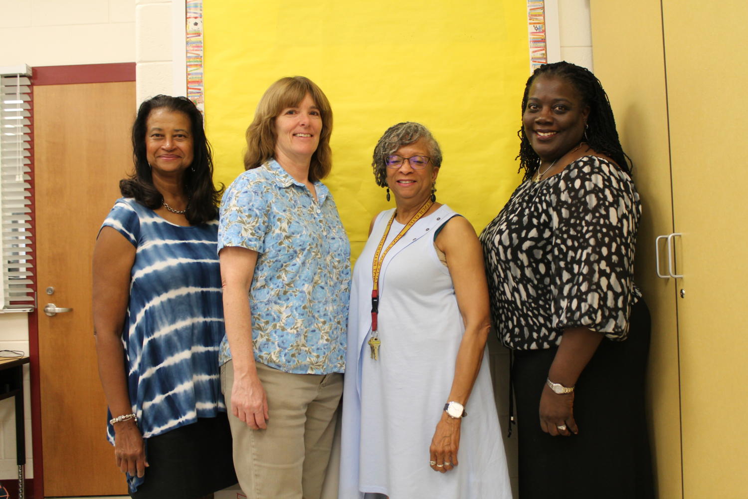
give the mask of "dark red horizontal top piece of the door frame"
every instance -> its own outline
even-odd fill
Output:
[[[33,68],[31,85],[73,83],[135,82],[135,63],[79,64],[77,66],[38,66]]]

